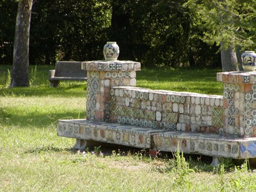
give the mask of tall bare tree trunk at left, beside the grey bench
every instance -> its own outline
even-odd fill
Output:
[[[29,87],[29,29],[33,0],[20,0],[17,8],[10,87]]]

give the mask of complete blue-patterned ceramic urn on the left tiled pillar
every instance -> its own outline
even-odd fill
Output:
[[[103,47],[103,54],[106,60],[117,60],[119,56],[119,46],[116,42],[107,42]]]

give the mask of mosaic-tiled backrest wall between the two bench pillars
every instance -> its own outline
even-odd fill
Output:
[[[171,131],[222,133],[223,97],[137,87],[111,89],[110,120]]]

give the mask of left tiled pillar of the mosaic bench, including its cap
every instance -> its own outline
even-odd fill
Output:
[[[136,85],[136,70],[140,63],[125,60],[97,60],[82,62],[82,69],[87,70],[88,120],[108,121],[111,86]]]

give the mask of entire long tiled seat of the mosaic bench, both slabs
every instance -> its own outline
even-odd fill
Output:
[[[146,127],[92,120],[59,120],[57,134],[76,138],[75,148],[94,142],[149,148],[150,151],[176,151],[216,157],[247,159],[256,157],[256,138],[236,138],[211,133],[170,132]]]

